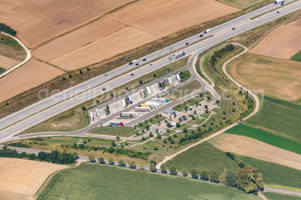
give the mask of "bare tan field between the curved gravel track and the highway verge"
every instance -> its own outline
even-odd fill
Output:
[[[0,79],[0,102],[36,87],[65,72],[36,59],[31,59],[7,76]],[[8,84],[9,83],[9,84]]]

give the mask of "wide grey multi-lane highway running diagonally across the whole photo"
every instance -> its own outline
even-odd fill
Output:
[[[291,1],[286,1],[286,3],[288,3],[288,2],[291,2]],[[276,11],[273,11],[271,13],[268,13],[261,17],[258,17],[260,19],[259,22],[255,22],[255,20],[248,21],[248,19],[250,19],[252,17],[256,17],[259,14],[268,12],[268,11],[273,10],[278,7],[280,7],[278,9],[278,11],[280,12],[279,14],[277,14]],[[212,31],[209,33],[203,34],[203,35],[204,35],[204,37],[207,37],[209,35],[214,35],[213,37],[207,38],[196,44],[188,46],[187,48],[185,48],[181,51],[185,51],[185,53],[189,55],[196,51],[206,50],[209,47],[219,44],[222,41],[225,41],[229,38],[232,38],[236,35],[239,35],[243,32],[246,32],[250,29],[255,28],[256,26],[262,25],[271,20],[277,19],[278,17],[281,17],[287,13],[296,11],[300,8],[301,8],[301,1],[292,3],[287,6],[282,6],[282,7],[279,4],[265,6],[256,11],[253,11],[251,13],[240,16],[234,20],[230,20],[219,26],[216,26],[213,28],[208,27],[208,28],[211,28]],[[232,27],[235,27],[236,29],[231,30]],[[175,43],[172,45],[172,48],[179,49],[179,48],[184,47],[186,42],[193,43],[195,41],[198,41],[200,39],[199,35],[200,34],[195,35],[191,38],[187,38],[181,42]],[[151,61],[151,60],[154,60],[154,59],[158,58],[159,56],[162,56],[166,53],[169,53],[168,47],[163,48],[162,50],[156,51],[154,53],[151,53],[147,56],[144,56],[143,58],[146,58],[147,61]],[[138,63],[142,64],[141,60],[143,58],[138,59]],[[157,61],[153,62],[152,64],[153,64],[152,66],[145,65],[145,66],[138,68],[128,74],[119,76],[116,79],[106,82],[107,80],[111,79],[112,77],[118,76],[119,74],[122,74],[122,73],[136,67],[135,65],[134,66],[127,65],[127,64],[123,65],[119,68],[116,68],[116,69],[108,72],[107,73],[108,76],[106,76],[106,77],[104,77],[103,75],[100,75],[98,77],[92,78],[88,81],[85,81],[84,83],[76,85],[70,89],[64,90],[64,91],[57,93],[49,98],[46,98],[46,99],[41,100],[31,106],[28,106],[28,107],[22,109],[21,111],[18,111],[14,114],[11,114],[7,117],[2,118],[0,120],[0,129],[3,129],[6,126],[9,126],[13,123],[15,123],[15,124],[7,127],[6,129],[3,129],[0,132],[0,141],[2,139],[11,137],[11,136],[17,134],[18,132],[21,132],[35,124],[38,124],[60,112],[66,111],[66,110],[74,107],[75,105],[81,104],[81,103],[87,101],[88,99],[91,99],[98,95],[101,95],[102,93],[104,93],[104,91],[101,90],[102,88],[106,88],[107,90],[110,90],[110,89],[116,88],[130,80],[134,80],[144,74],[150,73],[151,71],[155,71],[155,70],[161,68],[162,66],[168,64],[168,59],[166,59],[166,58],[158,59]],[[130,76],[131,73],[133,73],[134,76]],[[104,82],[106,82],[106,83],[102,84],[100,86],[97,86],[98,84],[101,84]],[[94,86],[97,86],[97,87],[89,89]],[[85,91],[85,92],[82,92],[82,91]],[[82,92],[82,93],[79,94],[80,92]],[[76,94],[79,94],[79,95],[76,95]],[[74,95],[76,95],[76,96],[74,96]],[[67,99],[67,100],[63,101],[64,99]],[[61,102],[61,103],[59,103],[59,102]],[[54,105],[54,104],[56,104],[56,105]],[[42,111],[42,112],[39,112],[39,111]],[[37,112],[39,112],[39,113],[37,113]],[[37,113],[37,114],[35,114],[35,113]],[[35,114],[35,115],[33,115],[33,114]],[[28,116],[30,116],[30,117],[28,117]],[[28,117],[28,118],[26,118],[26,117]],[[26,118],[26,119],[24,119],[24,118]],[[20,122],[18,122],[18,121],[20,121]]]

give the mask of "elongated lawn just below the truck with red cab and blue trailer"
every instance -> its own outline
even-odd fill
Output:
[[[103,126],[90,129],[88,133],[100,135],[119,135],[120,137],[129,137],[136,133],[136,129],[130,126]]]

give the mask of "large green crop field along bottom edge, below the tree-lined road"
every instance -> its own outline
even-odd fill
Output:
[[[145,192],[146,188],[154,187],[164,188],[164,192],[162,189]],[[204,197],[217,200],[261,199],[257,195],[246,194],[237,188],[221,184],[88,162],[82,162],[79,166],[55,174],[37,199],[59,199],[59,197],[137,200],[204,199]]]

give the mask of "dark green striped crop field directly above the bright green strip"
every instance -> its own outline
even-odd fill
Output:
[[[297,109],[261,100],[259,111],[243,123],[301,143],[301,111]]]

